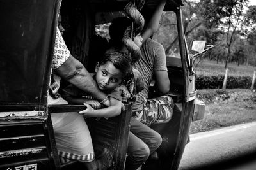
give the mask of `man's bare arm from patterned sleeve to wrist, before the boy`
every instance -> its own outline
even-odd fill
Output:
[[[56,73],[61,76],[61,78],[64,78],[99,101],[102,101],[107,96],[99,90],[96,82],[85,69],[83,64],[81,64],[81,62],[75,59],[71,54],[70,57],[68,57],[68,59],[56,69]]]

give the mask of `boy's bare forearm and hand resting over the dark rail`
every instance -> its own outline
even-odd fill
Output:
[[[87,108],[86,110],[80,111],[79,114],[83,114],[84,117],[115,117],[120,115],[123,105],[122,101],[118,101],[113,97],[110,97],[108,101],[110,106],[98,110],[94,110],[90,104],[84,103]]]

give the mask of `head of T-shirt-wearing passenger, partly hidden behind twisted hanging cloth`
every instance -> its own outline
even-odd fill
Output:
[[[109,36],[113,46],[120,48],[122,39],[127,27],[132,25],[132,21],[127,17],[118,17],[113,20],[109,26]],[[140,34],[134,36],[134,43],[141,47],[143,38]]]

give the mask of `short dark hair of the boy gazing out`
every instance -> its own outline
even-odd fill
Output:
[[[132,72],[132,61],[129,57],[118,50],[109,49],[104,53],[104,56],[100,60],[99,64],[105,64],[106,62],[112,62],[116,69],[119,69],[123,74],[123,79],[126,80]]]

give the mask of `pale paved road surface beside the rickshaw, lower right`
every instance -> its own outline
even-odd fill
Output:
[[[256,122],[190,136],[179,170],[256,169]]]

